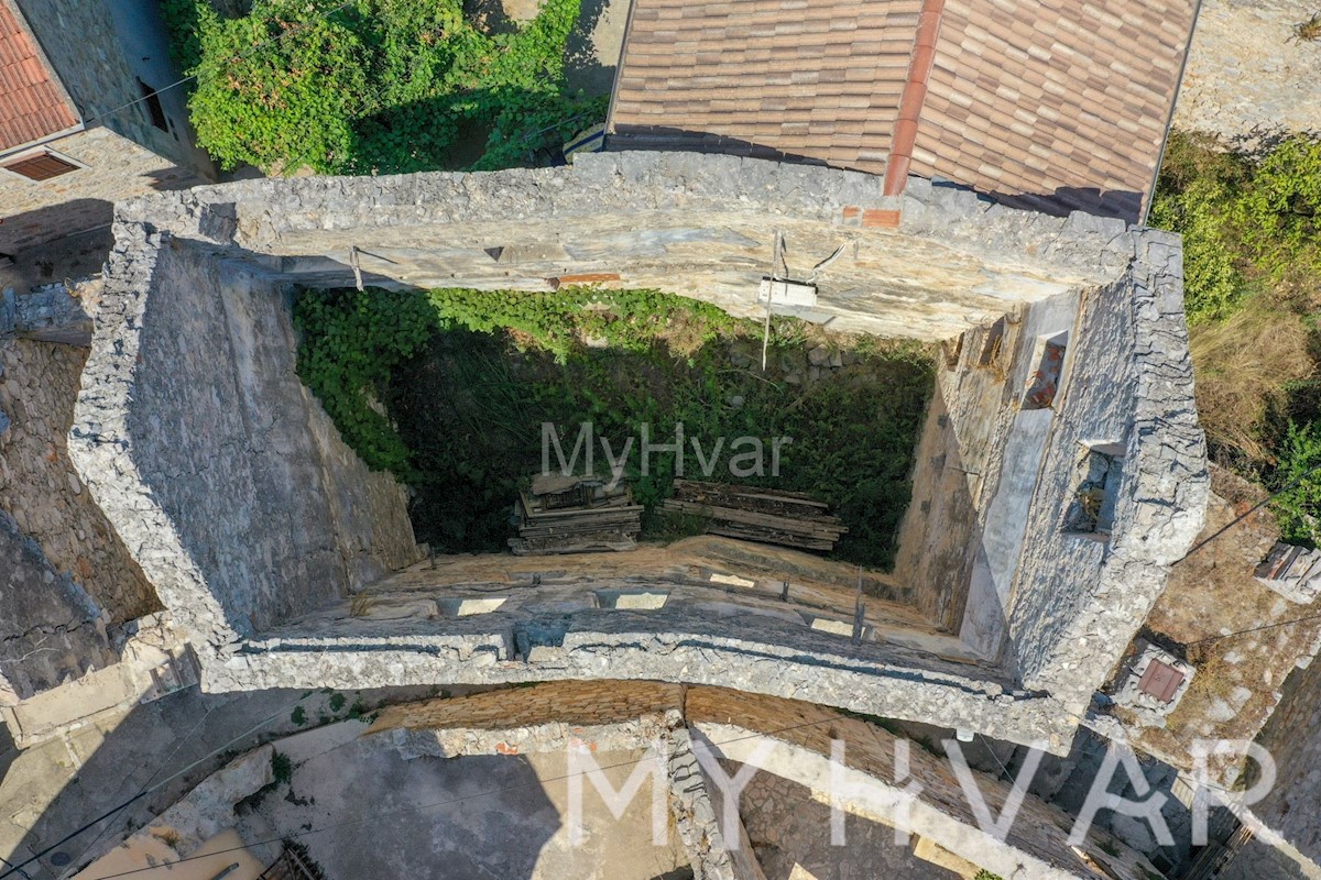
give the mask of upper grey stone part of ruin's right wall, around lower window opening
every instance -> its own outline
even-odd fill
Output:
[[[1078,707],[1193,545],[1210,492],[1178,239],[1147,231],[1136,248],[1128,277],[1083,299],[1008,606],[1011,660],[1024,685]],[[1069,524],[1089,447],[1122,458],[1108,540]]]

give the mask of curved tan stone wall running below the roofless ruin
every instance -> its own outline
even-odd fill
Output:
[[[695,731],[694,739],[704,741],[717,756],[737,755],[734,760],[766,753],[768,745],[778,747],[777,755],[790,760],[757,764],[761,772],[799,782],[808,780],[818,794],[826,794],[832,743],[843,740],[847,770],[857,774],[851,781],[893,792],[896,738],[888,731],[822,706],[723,687],[563,682],[487,691],[387,710],[367,735],[394,736],[406,749],[420,747],[419,753],[445,757],[560,751],[572,744],[621,751],[675,739],[675,753],[683,757],[688,736],[687,731],[678,731],[680,724]],[[684,735],[674,738],[671,730]],[[690,756],[683,765],[691,773],[695,760]],[[674,767],[671,761],[671,770]],[[914,830],[942,847],[999,869],[1005,877],[1095,876],[1066,844],[1071,821],[1057,807],[1028,794],[1008,840],[999,842],[978,831],[967,797],[946,760],[913,744],[910,774],[922,785],[915,793]],[[997,815],[1008,797],[1008,784],[979,772],[974,777]],[[711,782],[704,788],[703,813],[712,809],[719,813],[720,790]],[[856,806],[847,793],[839,794]],[[708,827],[712,823],[713,817],[705,822]],[[828,830],[823,827],[819,833],[826,835]],[[1114,872],[1110,876],[1132,880],[1149,876],[1141,872],[1149,865],[1139,854],[1122,844],[1112,848],[1112,852],[1104,850],[1095,835],[1082,846],[1090,859],[1110,867]]]

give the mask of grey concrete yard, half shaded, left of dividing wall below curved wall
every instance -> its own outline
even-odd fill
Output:
[[[387,736],[333,739],[239,826],[252,836],[310,827],[303,842],[330,880],[651,880],[687,864],[672,830],[653,844],[650,781],[620,819],[584,785],[585,839],[573,846],[564,753],[406,760]],[[642,753],[594,757],[618,790]]]

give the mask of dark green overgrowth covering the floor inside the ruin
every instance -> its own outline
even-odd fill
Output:
[[[567,459],[583,422],[593,425],[598,463],[602,438],[616,454],[634,438],[625,474],[647,508],[645,534],[697,530],[657,515],[675,454],[641,470],[642,426],[653,443],[672,443],[682,422],[687,476],[705,479],[694,439],[716,462],[711,479],[731,480],[731,445],[756,437],[765,464],[741,482],[835,505],[849,526],[841,558],[893,559],[933,387],[917,346],[860,340],[848,367],[816,368],[823,377],[811,381],[816,340],[802,322],[777,318],[762,373],[760,322],[654,290],[306,290],[295,318],[304,381],[371,467],[416,488],[419,538],[440,551],[505,548],[510,504],[543,466],[543,425],[556,426]],[[778,476],[777,437],[793,438]]]

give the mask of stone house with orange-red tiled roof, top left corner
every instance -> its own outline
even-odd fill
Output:
[[[0,3],[0,260],[104,227],[116,201],[214,179],[166,88],[155,5]]]

